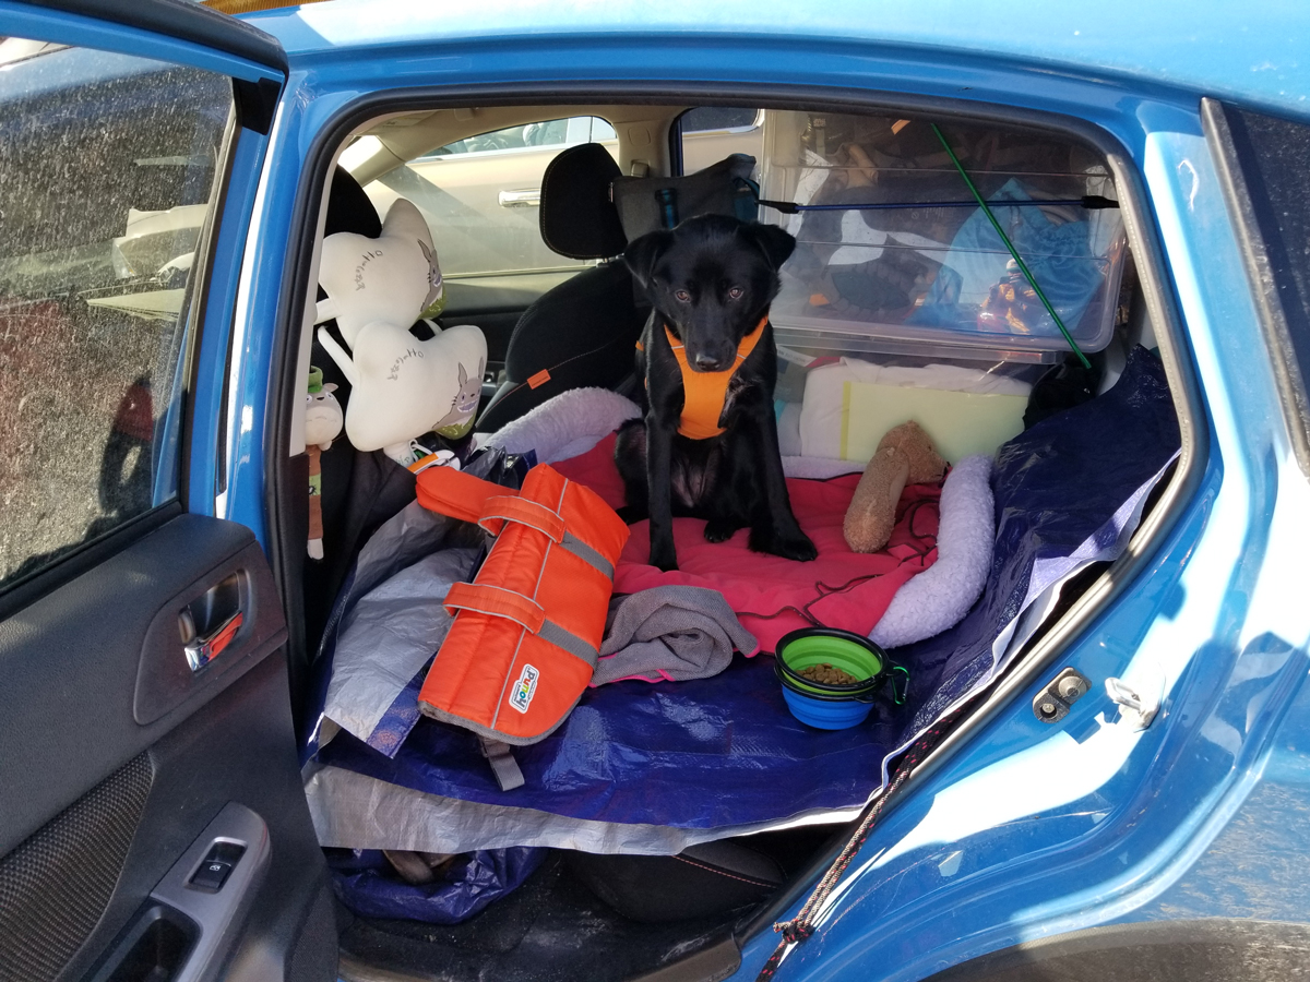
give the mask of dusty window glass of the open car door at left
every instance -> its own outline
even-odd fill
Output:
[[[0,588],[177,494],[229,79],[0,42]]]

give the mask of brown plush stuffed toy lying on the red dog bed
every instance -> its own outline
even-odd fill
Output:
[[[855,553],[876,553],[896,525],[896,503],[905,484],[931,484],[946,473],[943,461],[918,423],[887,431],[865,467],[846,509],[842,534]]]

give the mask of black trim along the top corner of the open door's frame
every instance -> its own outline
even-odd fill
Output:
[[[187,0],[26,0],[31,7],[63,10],[98,21],[166,34],[178,41],[245,58],[287,73],[282,42],[245,21]]]

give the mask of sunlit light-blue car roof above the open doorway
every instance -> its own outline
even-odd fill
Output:
[[[279,38],[293,64],[343,50],[521,37],[753,35],[876,45],[887,55],[913,48],[975,69],[1000,59],[1310,115],[1305,0],[331,0],[245,20]]]

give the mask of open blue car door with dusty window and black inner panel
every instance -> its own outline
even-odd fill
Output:
[[[214,517],[286,59],[110,7],[0,3],[0,979],[330,979],[282,598]]]

